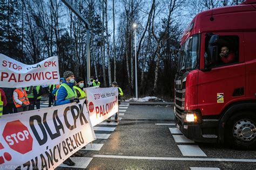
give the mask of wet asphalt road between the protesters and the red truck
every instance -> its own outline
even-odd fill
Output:
[[[74,167],[57,169],[256,169],[256,151],[237,151],[217,144],[187,140],[174,125],[173,108],[129,105],[118,125],[100,124],[97,139]],[[171,128],[171,129],[169,129]],[[110,136],[109,136],[110,135]]]

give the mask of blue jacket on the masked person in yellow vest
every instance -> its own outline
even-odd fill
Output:
[[[73,89],[74,83],[68,83],[65,80],[62,83],[68,84],[69,87],[74,91]],[[68,96],[68,91],[66,91],[65,87],[60,86],[58,89],[56,105],[70,103],[70,100],[65,100],[66,96]]]

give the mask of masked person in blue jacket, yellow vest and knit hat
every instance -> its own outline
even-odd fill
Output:
[[[56,105],[63,105],[72,102],[79,103],[76,90],[73,88],[75,83],[75,75],[71,71],[66,71],[64,72],[63,77],[65,80],[62,81],[62,84],[59,86],[56,93]],[[83,157],[83,155],[84,154],[82,153],[76,152],[71,157]],[[74,166],[75,162],[68,158],[64,160],[63,164]]]

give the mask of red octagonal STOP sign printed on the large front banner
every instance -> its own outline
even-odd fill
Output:
[[[28,128],[21,121],[6,123],[3,130],[3,137],[6,143],[19,153],[25,154],[32,150],[33,138]]]

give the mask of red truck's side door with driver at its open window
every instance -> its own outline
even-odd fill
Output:
[[[239,101],[244,96],[245,88],[244,34],[213,34],[219,34],[219,55],[217,61],[208,69],[204,68],[210,37],[206,34],[201,36],[198,107],[203,116],[219,115],[226,105]]]

